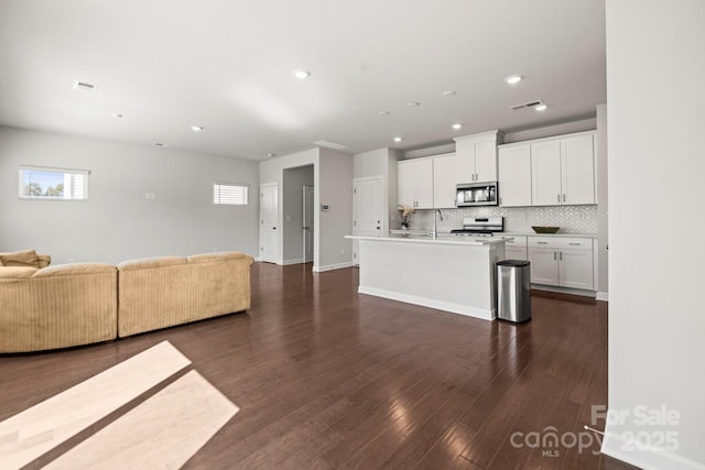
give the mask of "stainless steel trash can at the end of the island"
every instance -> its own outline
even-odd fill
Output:
[[[531,319],[531,263],[497,262],[497,317],[516,324]]]

